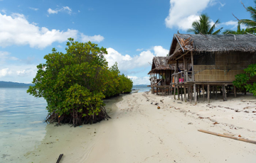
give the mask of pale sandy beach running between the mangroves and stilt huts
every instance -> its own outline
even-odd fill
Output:
[[[255,144],[198,132],[256,140],[255,97],[202,100],[194,106],[150,93],[123,96],[111,120],[81,128],[49,125],[42,145],[23,161],[55,162],[63,153],[61,162],[256,162]]]

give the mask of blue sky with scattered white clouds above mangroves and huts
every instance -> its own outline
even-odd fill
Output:
[[[240,0],[0,0],[0,81],[31,83],[43,57],[74,38],[107,48],[109,67],[117,62],[134,85],[149,84],[153,57],[166,56],[201,13],[223,30],[236,30],[232,13],[250,18]]]

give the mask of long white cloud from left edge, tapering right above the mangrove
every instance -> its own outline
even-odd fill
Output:
[[[23,14],[13,13],[11,16],[0,13],[0,46],[30,45],[30,47],[44,48],[54,42],[63,43],[68,38],[81,38],[83,35],[78,30],[68,29],[66,31],[49,30],[46,27],[36,26],[29,23]],[[86,36],[86,35],[85,35]],[[92,38],[90,38],[92,37]],[[92,41],[100,42],[104,38],[101,35],[87,36]],[[85,37],[82,37],[85,40]]]

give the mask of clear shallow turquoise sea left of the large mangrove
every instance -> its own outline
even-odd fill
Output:
[[[0,89],[0,162],[23,157],[46,133],[47,103],[27,94],[27,89]]]

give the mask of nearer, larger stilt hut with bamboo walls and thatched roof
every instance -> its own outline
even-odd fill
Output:
[[[220,92],[223,92],[225,101],[226,89],[233,86],[235,75],[243,73],[249,64],[256,63],[256,36],[174,34],[167,60],[176,66],[184,64],[184,71],[172,74],[174,81],[171,85],[174,85],[174,91],[178,91],[178,99],[179,92],[183,92],[181,98],[183,95],[185,101],[187,97],[191,101],[194,94],[197,103],[198,93],[200,97],[203,91],[204,100],[207,87],[210,102],[210,91],[217,96],[217,86],[222,86]],[[236,88],[233,90],[236,96]]]

